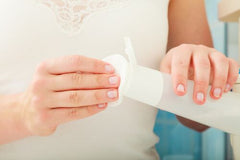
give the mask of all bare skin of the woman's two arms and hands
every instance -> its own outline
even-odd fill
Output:
[[[205,102],[209,82],[213,84],[212,98],[221,98],[222,93],[214,96],[214,89],[225,90],[229,84],[229,91],[237,79],[238,66],[211,48],[203,0],[172,0],[169,30],[169,51],[161,71],[172,73],[176,94],[186,94],[189,78],[195,81],[193,99],[197,104]],[[0,96],[0,144],[29,136],[48,136],[62,123],[104,111],[107,103],[118,99],[119,83],[111,65],[100,60],[66,56],[40,63],[25,92]],[[179,84],[183,86],[180,90]],[[203,93],[203,101],[196,98],[198,92]],[[182,117],[178,119],[198,131],[207,128]]]

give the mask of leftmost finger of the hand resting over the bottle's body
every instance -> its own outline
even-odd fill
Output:
[[[177,95],[183,96],[187,92],[188,71],[191,62],[191,50],[184,50],[181,47],[172,57],[172,80],[174,91]],[[179,54],[181,53],[181,54]]]

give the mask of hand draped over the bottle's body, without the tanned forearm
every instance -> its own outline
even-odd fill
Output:
[[[206,101],[209,84],[213,99],[230,91],[238,79],[239,67],[236,61],[213,48],[182,44],[167,53],[160,70],[171,73],[174,91],[179,96],[186,94],[187,80],[194,80],[193,100],[201,105]]]

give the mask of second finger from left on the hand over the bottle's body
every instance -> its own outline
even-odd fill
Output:
[[[206,101],[206,94],[210,79],[210,61],[204,50],[198,50],[193,56],[195,103],[201,105]]]

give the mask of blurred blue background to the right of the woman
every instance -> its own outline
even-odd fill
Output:
[[[214,46],[237,59],[238,24],[218,20],[220,0],[205,0]],[[197,133],[181,125],[175,115],[159,111],[155,133],[160,136],[156,148],[161,160],[233,160],[229,135],[217,129]]]

